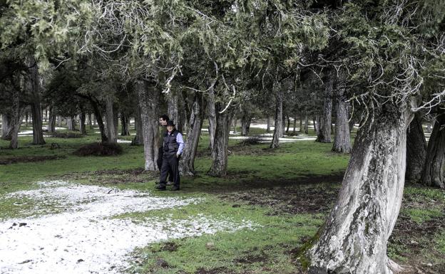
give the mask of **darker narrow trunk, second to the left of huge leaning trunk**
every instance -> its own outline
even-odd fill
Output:
[[[332,75],[332,73],[327,75],[325,83],[323,113],[320,117],[319,132],[315,142],[330,143],[332,126],[332,90],[334,88],[334,75]]]

